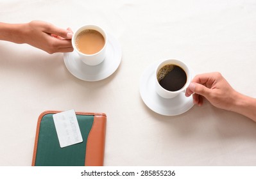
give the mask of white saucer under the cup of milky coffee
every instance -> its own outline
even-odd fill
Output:
[[[96,66],[89,66],[81,61],[77,52],[64,53],[67,70],[84,81],[100,81],[112,75],[121,63],[121,46],[114,36],[108,34],[106,58]]]

